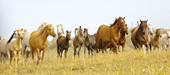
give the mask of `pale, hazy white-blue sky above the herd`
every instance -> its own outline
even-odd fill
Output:
[[[21,28],[37,30],[43,22],[52,24],[56,33],[56,26],[62,24],[72,37],[79,26],[94,34],[119,16],[126,17],[129,28],[148,19],[154,29],[170,29],[170,0],[0,0],[0,36],[10,38]]]

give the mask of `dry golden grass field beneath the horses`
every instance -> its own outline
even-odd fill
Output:
[[[66,59],[57,57],[55,49],[48,49],[45,59],[39,65],[29,58],[27,62],[21,56],[18,66],[9,65],[9,61],[0,63],[1,75],[168,75],[170,74],[170,50],[155,50],[146,53],[126,47],[119,54],[99,53],[89,57],[81,50],[80,58],[73,57],[72,47]]]

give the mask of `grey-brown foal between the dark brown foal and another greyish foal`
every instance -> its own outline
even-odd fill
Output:
[[[73,40],[73,46],[74,46],[74,57],[75,57],[77,53],[76,50],[77,48],[78,48],[78,56],[80,54],[80,50],[84,42],[84,37],[82,31],[77,28],[75,29],[74,33],[75,33],[75,37]]]

